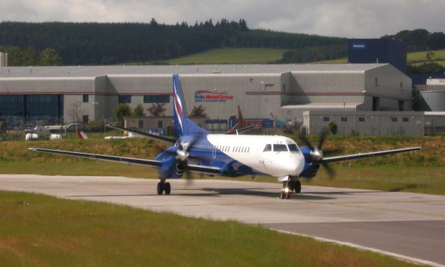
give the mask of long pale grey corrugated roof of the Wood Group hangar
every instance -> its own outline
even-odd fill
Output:
[[[286,65],[145,65],[0,67],[0,78],[94,77],[131,74],[280,74],[298,71],[350,72],[371,70],[386,64],[286,64]]]

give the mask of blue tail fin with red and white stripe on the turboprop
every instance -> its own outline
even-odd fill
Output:
[[[179,74],[173,74],[173,127],[177,139],[188,134],[209,133],[187,117]]]

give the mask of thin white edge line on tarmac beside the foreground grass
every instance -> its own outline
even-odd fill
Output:
[[[284,231],[284,230],[275,229],[275,228],[269,228],[269,229],[272,229],[272,230],[274,230],[276,232],[280,232],[280,233],[283,233],[283,234],[292,234],[293,236],[310,237],[310,238],[314,238],[317,241],[328,242],[328,243],[335,243],[335,244],[338,244],[338,245],[347,245],[348,247],[356,248],[357,250],[368,250],[368,251],[371,251],[371,252],[384,254],[384,255],[387,255],[389,257],[394,257],[394,258],[397,258],[397,259],[401,259],[403,261],[407,261],[407,262],[410,262],[412,264],[423,264],[423,265],[434,266],[434,267],[445,267],[445,265],[438,264],[437,262],[426,261],[425,259],[418,259],[418,258],[414,258],[414,257],[408,257],[408,256],[405,256],[405,255],[402,255],[402,254],[397,254],[397,253],[393,253],[393,252],[387,252],[385,250],[378,250],[376,248],[369,248],[369,247],[365,247],[363,245],[357,245],[357,244],[354,244],[354,243],[337,241],[337,240],[334,240],[334,239],[328,239],[328,238],[323,238],[323,237],[318,237],[318,236],[311,236],[309,234],[300,234],[300,233],[296,233],[296,232],[289,232],[289,231]]]

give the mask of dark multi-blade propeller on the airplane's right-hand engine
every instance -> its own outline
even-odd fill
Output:
[[[325,143],[326,137],[329,133],[330,131],[328,128],[323,128],[321,130],[320,140],[318,140],[318,147],[314,147],[305,134],[300,133],[298,137],[300,138],[300,141],[302,143],[304,143],[305,145],[307,145],[307,147],[311,149],[311,152],[309,153],[309,159],[311,163],[322,165],[323,168],[325,168],[327,175],[329,175],[330,179],[333,179],[335,176],[335,172],[334,170],[332,170],[332,168],[329,167],[329,165],[327,165],[327,163],[323,161],[323,152],[321,150],[321,148],[323,147],[323,143]],[[325,149],[326,154],[340,152],[340,151],[341,151],[340,148]]]

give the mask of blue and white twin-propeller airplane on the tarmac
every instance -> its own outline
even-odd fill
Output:
[[[300,179],[314,177],[321,165],[332,175],[332,170],[327,163],[421,149],[421,147],[410,147],[323,158],[321,146],[325,134],[322,135],[318,147],[313,146],[302,136],[305,146],[301,148],[294,140],[285,136],[210,134],[209,131],[202,129],[187,117],[178,74],[173,75],[173,100],[175,139],[114,127],[168,143],[170,147],[156,156],[154,160],[35,147],[29,149],[37,152],[154,167],[159,173],[160,179],[157,186],[158,195],[163,193],[170,195],[171,187],[166,179],[178,179],[183,176],[187,178],[188,172],[229,177],[269,175],[277,177],[278,181],[282,182],[282,199],[289,199],[293,192],[300,193]]]

